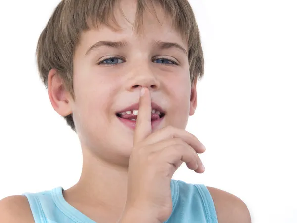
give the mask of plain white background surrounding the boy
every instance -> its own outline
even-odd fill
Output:
[[[78,138],[38,77],[37,39],[59,0],[0,1],[0,199],[65,189],[82,167]],[[205,53],[187,130],[206,171],[174,179],[241,198],[253,223],[297,223],[297,6],[294,0],[191,0]]]

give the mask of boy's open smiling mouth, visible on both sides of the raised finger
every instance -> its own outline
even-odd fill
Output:
[[[139,108],[139,103],[136,103],[122,111],[118,111],[116,113],[116,116],[129,127],[135,128],[135,124],[138,116],[138,108]],[[160,106],[158,106],[155,103],[152,103],[151,105],[152,127],[155,127],[157,123],[160,123],[161,120],[164,118],[165,114],[166,114],[165,111]]]

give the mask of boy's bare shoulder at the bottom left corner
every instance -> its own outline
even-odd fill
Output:
[[[0,200],[0,222],[35,223],[25,196],[15,195]]]

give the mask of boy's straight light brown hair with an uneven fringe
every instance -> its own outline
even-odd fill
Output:
[[[40,78],[48,88],[48,74],[52,68],[63,80],[66,90],[75,99],[73,89],[73,57],[83,31],[108,25],[118,26],[114,16],[115,4],[119,0],[62,0],[55,8],[49,22],[42,31],[37,44],[37,64]],[[148,0],[137,0],[137,11],[133,28],[140,33],[143,14],[149,10]],[[159,3],[172,18],[172,24],[188,43],[188,59],[191,83],[204,74],[204,57],[200,33],[195,15],[188,0],[150,0]],[[152,4],[153,5],[153,4]],[[153,7],[154,8],[154,7]],[[154,10],[155,12],[155,10]],[[124,15],[124,14],[123,14]],[[75,130],[72,114],[64,117]]]

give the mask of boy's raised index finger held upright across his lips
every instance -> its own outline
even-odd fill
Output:
[[[151,132],[151,97],[148,88],[142,88],[134,130],[134,144],[144,140]]]

